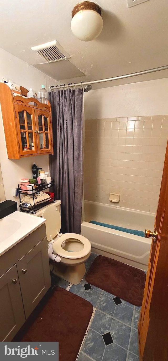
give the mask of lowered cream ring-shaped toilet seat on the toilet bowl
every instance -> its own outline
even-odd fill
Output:
[[[68,252],[63,247],[62,244],[69,239],[72,239],[75,242],[80,241],[83,244],[83,249],[78,252]],[[89,240],[82,236],[81,234],[77,233],[65,233],[59,238],[56,238],[56,241],[53,243],[53,251],[60,257],[64,258],[82,258],[88,255],[91,251],[91,243]]]

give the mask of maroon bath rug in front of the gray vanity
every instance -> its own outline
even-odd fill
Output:
[[[59,361],[75,361],[92,316],[93,306],[83,298],[56,287],[29,327],[14,341],[59,342]],[[20,337],[19,337],[20,334]]]

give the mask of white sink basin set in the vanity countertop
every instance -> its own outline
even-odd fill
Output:
[[[0,219],[1,238],[3,240],[9,238],[15,232],[17,232],[20,227],[21,222],[17,221],[17,219],[12,218],[12,216]]]

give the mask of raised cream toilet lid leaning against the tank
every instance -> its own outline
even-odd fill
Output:
[[[46,219],[47,241],[50,241],[51,236],[54,238],[57,235],[57,230],[59,232],[61,229],[61,216],[58,208],[51,204],[42,213],[42,218]]]

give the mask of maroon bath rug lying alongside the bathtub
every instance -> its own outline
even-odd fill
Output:
[[[97,256],[86,281],[135,306],[142,305],[146,274],[132,266]]]

